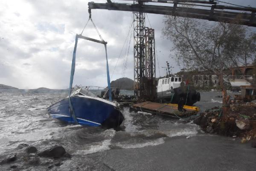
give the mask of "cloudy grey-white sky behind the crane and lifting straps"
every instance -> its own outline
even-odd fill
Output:
[[[87,3],[90,1],[0,0],[0,84],[20,89],[68,88],[75,36],[81,33],[88,20]],[[222,1],[256,7],[256,0]],[[94,2],[105,3],[106,0]],[[115,2],[124,1],[115,0]],[[182,67],[177,66],[172,58],[174,54],[170,51],[172,41],[162,35],[163,15],[147,16],[151,26],[147,18],[146,26],[155,29],[158,59],[156,59],[156,76],[165,75],[162,67],[166,66],[166,61],[174,67],[172,72],[178,72]],[[128,49],[132,13],[94,9],[92,19],[102,38],[108,42],[110,75],[113,73],[111,81],[122,76],[133,79],[133,35]],[[83,35],[99,39],[90,22],[84,29]],[[119,58],[127,36],[127,46],[125,44]],[[79,40],[76,56],[73,85],[105,87],[107,77],[104,46]],[[126,58],[127,66],[123,74]]]

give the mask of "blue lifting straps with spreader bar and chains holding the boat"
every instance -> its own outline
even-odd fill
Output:
[[[89,18],[89,20],[92,21],[93,23],[93,20],[91,18]],[[88,21],[89,21],[88,20]],[[87,23],[88,23],[87,21]],[[87,23],[86,25],[84,26],[84,28],[87,26]],[[87,40],[87,41],[93,41],[93,42],[96,42],[96,43],[102,43],[104,44],[105,46],[105,53],[106,53],[106,61],[107,61],[107,79],[108,79],[108,95],[109,95],[109,100],[112,101],[112,96],[111,96],[111,84],[110,84],[110,76],[109,76],[109,68],[108,68],[108,54],[107,54],[107,42],[104,41],[101,37],[101,35],[99,34],[99,31],[97,29],[97,27],[95,26],[95,24],[93,23],[93,26],[94,28],[96,29],[101,41],[99,40],[96,40],[96,39],[93,39],[93,38],[88,38],[88,37],[85,37],[85,36],[82,36],[81,34],[83,33],[83,31],[81,32],[80,35],[76,34],[76,41],[75,41],[75,47],[74,47],[74,51],[73,51],[73,58],[72,58],[72,65],[71,65],[71,73],[70,73],[70,87],[69,87],[69,94],[68,94],[68,99],[69,99],[69,109],[70,109],[70,114],[71,114],[71,117],[73,118],[73,121],[78,124],[77,122],[77,119],[76,119],[76,115],[75,115],[75,111],[74,111],[74,108],[73,108],[73,104],[72,104],[72,101],[71,101],[71,90],[72,90],[72,85],[73,85],[73,78],[74,78],[74,73],[75,73],[75,67],[76,67],[76,48],[77,48],[77,43],[78,43],[78,38],[81,38],[81,39],[84,39],[84,40]]]

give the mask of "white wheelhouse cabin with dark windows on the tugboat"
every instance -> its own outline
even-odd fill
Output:
[[[161,78],[158,80],[157,92],[162,92],[170,89],[180,87],[182,78],[179,76],[172,76],[168,78]]]

